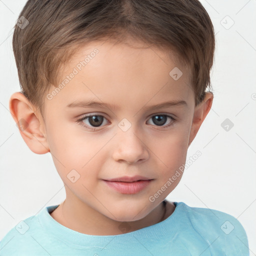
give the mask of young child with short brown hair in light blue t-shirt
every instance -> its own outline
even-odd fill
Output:
[[[28,0],[9,108],[66,198],[13,227],[0,255],[248,255],[237,219],[165,199],[211,108],[214,47],[198,0]]]

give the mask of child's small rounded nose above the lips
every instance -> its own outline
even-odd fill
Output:
[[[148,159],[149,152],[146,141],[140,133],[131,126],[128,130],[118,130],[115,135],[113,159],[128,163],[142,162]]]

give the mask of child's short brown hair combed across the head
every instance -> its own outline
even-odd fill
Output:
[[[15,25],[12,40],[20,88],[42,114],[60,65],[78,46],[107,36],[121,39],[121,32],[174,49],[191,68],[195,105],[211,88],[214,28],[198,0],[28,0],[21,16],[29,23]]]

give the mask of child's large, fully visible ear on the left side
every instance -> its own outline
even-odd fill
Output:
[[[40,111],[35,111],[34,105],[21,92],[11,95],[9,109],[27,146],[36,154],[49,152],[45,124]]]

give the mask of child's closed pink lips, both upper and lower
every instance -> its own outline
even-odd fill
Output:
[[[144,178],[144,179],[142,179]],[[119,181],[119,180],[128,180],[128,181]],[[133,181],[131,181],[133,180]],[[148,179],[141,176],[133,176],[133,177],[120,177],[120,178],[113,178],[111,180],[103,181],[112,189],[116,190],[122,194],[135,194],[146,188],[149,183],[153,179]]]

